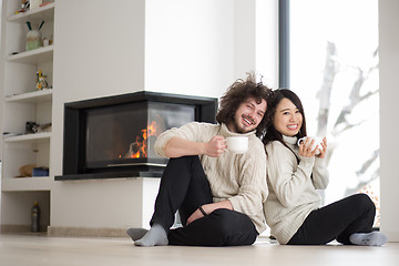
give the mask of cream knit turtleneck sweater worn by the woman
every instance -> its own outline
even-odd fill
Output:
[[[323,158],[299,155],[297,137],[283,136],[283,140],[297,154],[300,163],[280,142],[266,145],[269,195],[264,212],[270,234],[280,244],[287,244],[309,213],[321,206],[316,190],[325,190],[329,176]]]

